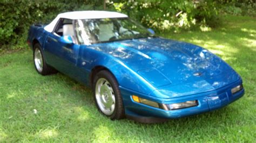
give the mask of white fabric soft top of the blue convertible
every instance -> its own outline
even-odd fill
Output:
[[[72,11],[60,13],[52,22],[44,27],[44,30],[52,32],[59,18],[67,19],[99,19],[99,18],[121,18],[128,17],[122,13],[111,11]]]

